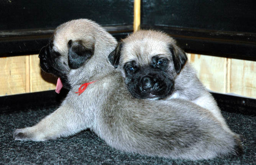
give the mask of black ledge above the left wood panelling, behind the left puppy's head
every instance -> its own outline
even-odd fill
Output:
[[[125,38],[133,32],[133,25],[104,26],[117,40]],[[39,53],[39,50],[49,43],[54,29],[0,31],[0,57],[10,57]]]

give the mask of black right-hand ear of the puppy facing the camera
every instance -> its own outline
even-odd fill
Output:
[[[181,69],[187,62],[187,55],[181,48],[177,46],[173,47],[172,45],[170,45],[169,49],[171,50],[172,53],[172,60],[174,63],[176,73],[179,74],[181,72]]]

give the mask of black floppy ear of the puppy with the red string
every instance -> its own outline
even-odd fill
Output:
[[[71,69],[79,68],[94,53],[94,46],[92,49],[87,49],[82,45],[81,40],[69,40],[67,47],[69,49],[68,63]]]

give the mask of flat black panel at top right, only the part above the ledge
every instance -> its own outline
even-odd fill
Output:
[[[141,24],[256,32],[254,0],[142,0],[141,6]]]

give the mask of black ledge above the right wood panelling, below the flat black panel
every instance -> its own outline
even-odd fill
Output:
[[[174,37],[179,46],[189,53],[213,55],[243,60],[256,60],[256,34],[208,29],[141,24],[142,29],[164,31]]]

